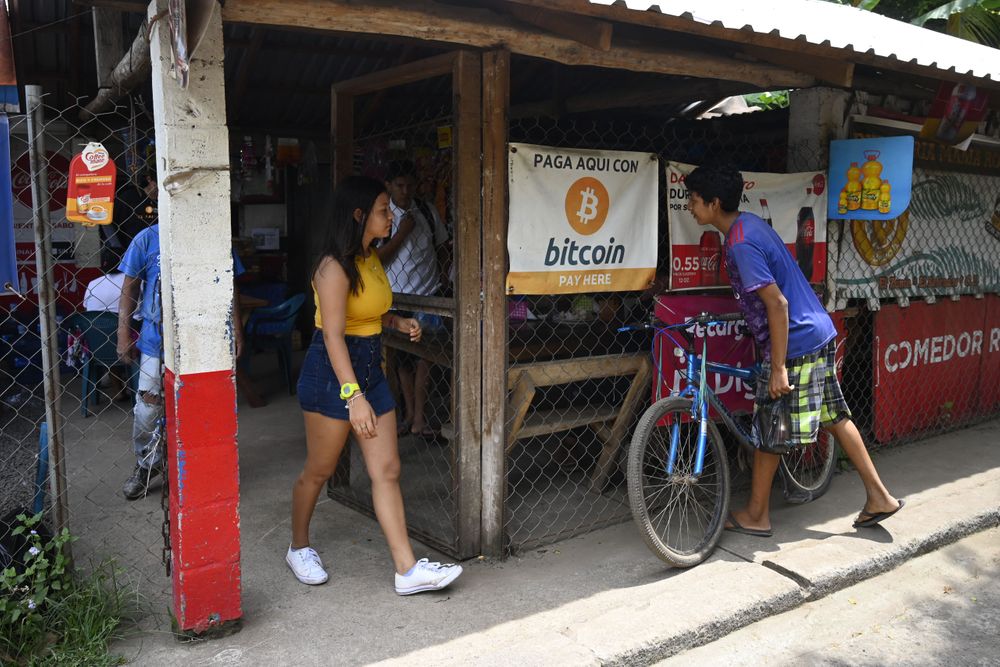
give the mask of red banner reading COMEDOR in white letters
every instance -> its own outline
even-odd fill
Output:
[[[875,314],[872,361],[879,441],[995,412],[1000,368],[996,305],[996,297],[965,297],[933,304],[914,301],[907,308],[887,305]]]

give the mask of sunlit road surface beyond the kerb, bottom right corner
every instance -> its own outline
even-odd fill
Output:
[[[1000,664],[1000,528],[660,665]]]

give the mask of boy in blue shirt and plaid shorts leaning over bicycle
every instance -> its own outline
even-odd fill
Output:
[[[903,507],[903,500],[882,484],[852,421],[837,379],[836,329],[830,316],[778,234],[756,215],[739,210],[739,171],[701,167],[685,183],[695,220],[715,227],[726,239],[730,283],[762,360],[755,409],[787,395],[791,443],[814,445],[822,425],[858,471],[866,499],[854,526],[874,526],[889,518]],[[775,454],[754,452],[749,503],[730,513],[727,530],[771,536],[768,502],[778,462]]]

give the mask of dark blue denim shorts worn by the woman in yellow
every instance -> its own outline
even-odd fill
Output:
[[[389,383],[382,372],[382,336],[344,336],[351,367],[361,391],[379,417],[396,409]],[[299,374],[299,405],[305,412],[318,412],[331,419],[350,420],[347,405],[323,343],[323,331],[313,334]]]

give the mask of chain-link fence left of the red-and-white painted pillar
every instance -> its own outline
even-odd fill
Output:
[[[156,220],[155,200],[143,190],[154,168],[153,121],[140,107],[120,106],[86,122],[81,111],[79,104],[55,108],[43,96],[34,128],[27,115],[9,119],[18,284],[0,296],[0,514],[44,510],[64,517],[79,538],[73,545],[78,564],[114,558],[162,608],[170,591],[166,489],[157,480],[134,502],[123,496],[137,463],[131,444],[135,369],[117,353],[123,282],[117,267],[131,239]],[[36,155],[44,158],[34,169],[29,135],[43,144]],[[73,209],[94,221],[82,225],[66,219],[68,171],[90,142],[101,143],[117,164],[114,210],[112,217],[109,202],[96,196],[76,199]],[[58,341],[49,397],[54,424],[46,418],[43,391],[46,285],[36,270],[32,212],[32,183],[41,167],[47,182],[37,191],[49,217],[51,324]],[[62,474],[63,483],[50,485]],[[50,489],[62,493],[53,497]]]

